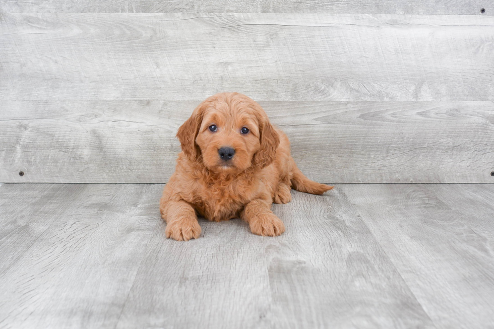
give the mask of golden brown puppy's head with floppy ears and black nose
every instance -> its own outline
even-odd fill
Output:
[[[215,172],[264,168],[280,143],[263,108],[238,93],[221,93],[199,104],[178,129],[183,153]]]

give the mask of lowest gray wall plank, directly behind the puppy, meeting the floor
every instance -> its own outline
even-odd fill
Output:
[[[165,183],[199,103],[3,101],[0,181]],[[260,103],[317,181],[494,182],[493,102]]]

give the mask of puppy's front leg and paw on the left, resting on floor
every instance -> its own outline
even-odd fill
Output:
[[[168,201],[160,205],[161,217],[166,222],[165,235],[177,241],[197,239],[201,226],[194,208],[184,201]]]

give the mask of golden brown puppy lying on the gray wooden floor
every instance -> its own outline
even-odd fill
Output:
[[[290,202],[291,187],[313,194],[333,188],[300,172],[286,135],[242,94],[209,97],[178,128],[177,137],[182,152],[160,200],[168,238],[199,238],[197,214],[210,221],[240,216],[252,233],[280,235],[285,225],[271,211],[273,202]]]

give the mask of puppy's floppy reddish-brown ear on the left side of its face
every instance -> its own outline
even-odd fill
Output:
[[[201,149],[196,144],[196,138],[199,134],[199,128],[201,127],[205,108],[205,102],[199,104],[194,112],[192,112],[191,117],[183,122],[176,133],[183,153],[185,153],[191,161],[197,161],[201,156]]]

